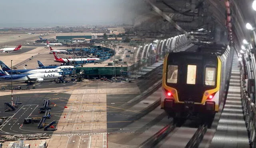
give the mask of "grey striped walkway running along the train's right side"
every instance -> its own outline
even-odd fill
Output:
[[[240,93],[240,70],[237,55],[234,55],[226,104],[210,148],[250,147]]]

